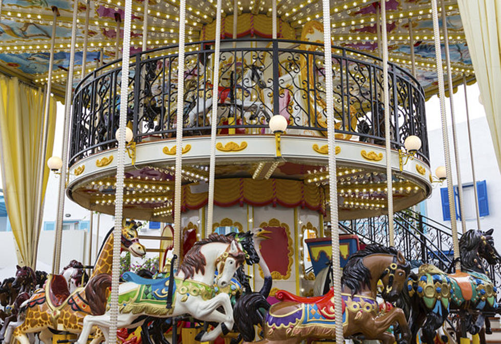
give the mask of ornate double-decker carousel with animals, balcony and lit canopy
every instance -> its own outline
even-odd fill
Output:
[[[501,256],[480,221],[458,228],[452,191],[453,93],[486,68],[482,39],[463,25],[470,6],[0,0],[4,185],[31,164],[24,189],[4,187],[20,266],[0,289],[0,338],[485,343]],[[433,95],[440,109],[426,113]],[[442,119],[443,147],[428,145],[429,116]],[[29,139],[12,143],[28,123]],[[55,135],[60,158],[47,153]],[[432,148],[445,166],[430,166]],[[49,173],[60,186],[44,275]],[[410,210],[437,184],[449,190],[450,228]],[[35,197],[19,199],[23,190]],[[115,226],[94,243],[93,265],[58,274],[66,196]],[[159,268],[121,274],[123,251],[147,251],[138,221],[162,223]]]

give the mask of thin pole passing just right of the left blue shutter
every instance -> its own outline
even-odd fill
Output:
[[[447,77],[449,86],[449,102],[450,102],[450,118],[452,122],[452,148],[454,150],[454,161],[456,165],[456,178],[458,178],[458,196],[459,196],[459,212],[461,215],[461,229],[463,233],[466,233],[466,219],[465,219],[465,207],[463,198],[463,184],[461,180],[461,166],[459,160],[459,146],[458,146],[458,135],[456,135],[456,121],[454,120],[454,99],[453,99],[453,85],[452,85],[452,72],[450,69],[450,54],[449,54],[449,34],[447,32],[447,18],[445,16],[445,4],[442,0],[442,27],[444,29],[444,45],[445,45],[445,63],[447,65]],[[476,186],[475,186],[476,187]]]

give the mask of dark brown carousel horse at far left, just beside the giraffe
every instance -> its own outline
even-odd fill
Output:
[[[9,324],[17,322],[17,316],[21,304],[28,300],[35,290],[35,271],[33,271],[33,269],[29,266],[20,267],[19,265],[16,265],[16,268],[17,271],[14,281],[12,282],[12,288],[17,289],[18,293],[12,305],[12,313],[5,318],[2,330],[0,330],[0,341],[3,340]]]

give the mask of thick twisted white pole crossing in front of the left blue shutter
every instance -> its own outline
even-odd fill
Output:
[[[458,227],[456,223],[454,195],[452,194],[452,171],[450,166],[449,135],[447,133],[447,118],[445,113],[444,74],[442,70],[442,49],[440,47],[439,15],[437,0],[431,0],[431,18],[433,20],[433,39],[435,41],[435,63],[437,64],[437,78],[439,83],[440,113],[442,117],[442,140],[444,143],[445,171],[447,176],[447,191],[449,196],[450,227],[454,259],[459,258]],[[452,91],[452,90],[451,90]],[[461,269],[461,262],[456,262],[456,270]]]

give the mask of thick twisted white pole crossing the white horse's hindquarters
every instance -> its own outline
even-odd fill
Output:
[[[125,0],[122,46],[122,74],[120,81],[120,120],[117,150],[117,177],[115,189],[115,227],[113,229],[112,291],[110,295],[110,332],[107,344],[117,342],[118,282],[120,279],[120,243],[123,216],[123,179],[125,172],[125,128],[127,125],[127,97],[130,62],[130,21],[132,0]],[[117,36],[119,31],[117,32]]]

